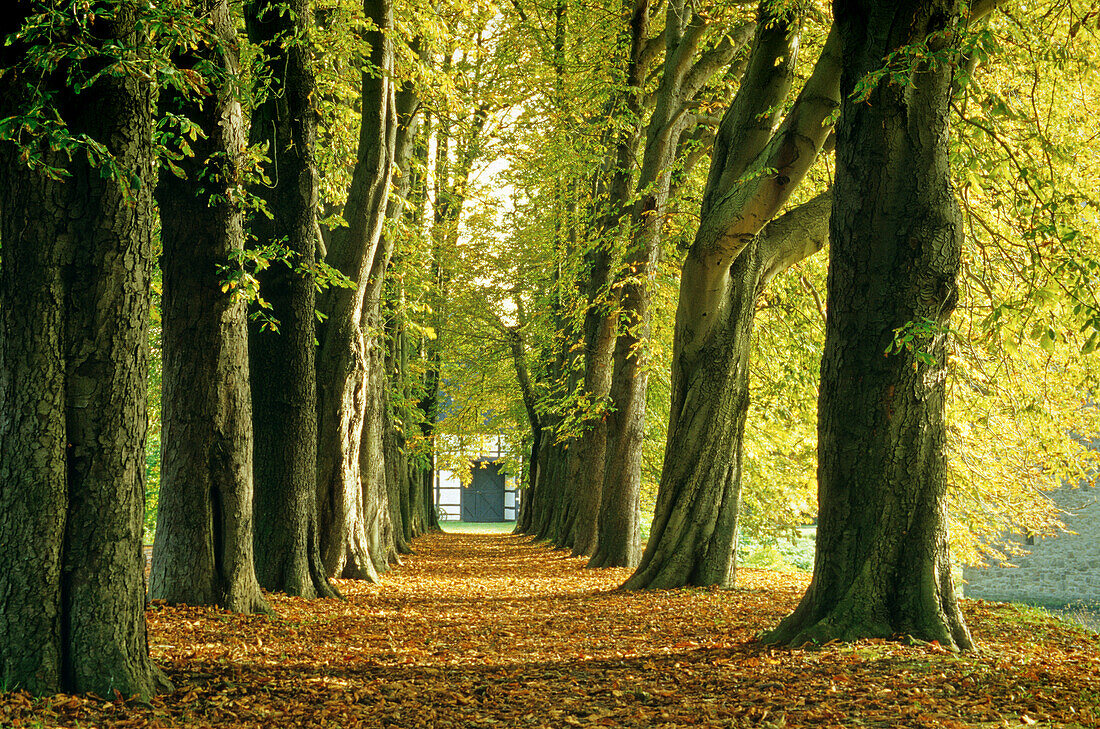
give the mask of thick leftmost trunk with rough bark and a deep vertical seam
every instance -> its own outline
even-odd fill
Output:
[[[68,139],[112,164],[0,143],[0,677],[37,694],[170,688],[148,656],[142,554],[153,87],[95,76],[111,54],[141,63],[140,11],[112,11],[88,19],[94,36],[56,29],[92,48],[65,73],[25,66],[24,40],[0,49],[0,117],[47,93]],[[24,20],[9,8],[0,33]],[[64,85],[89,78],[79,93]]]

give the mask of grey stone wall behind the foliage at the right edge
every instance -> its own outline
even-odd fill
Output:
[[[1100,488],[1064,487],[1052,497],[1076,533],[1035,537],[1034,544],[1016,539],[1026,553],[1010,556],[1014,567],[964,568],[967,597],[1049,606],[1100,603]]]

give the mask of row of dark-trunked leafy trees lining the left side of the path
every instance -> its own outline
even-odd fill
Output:
[[[142,578],[154,288],[148,596],[267,611],[261,587],[377,579],[437,523],[430,318],[476,134],[425,92],[459,55],[449,19],[398,29],[388,0],[18,11],[0,29],[0,670],[148,695],[166,685]]]

